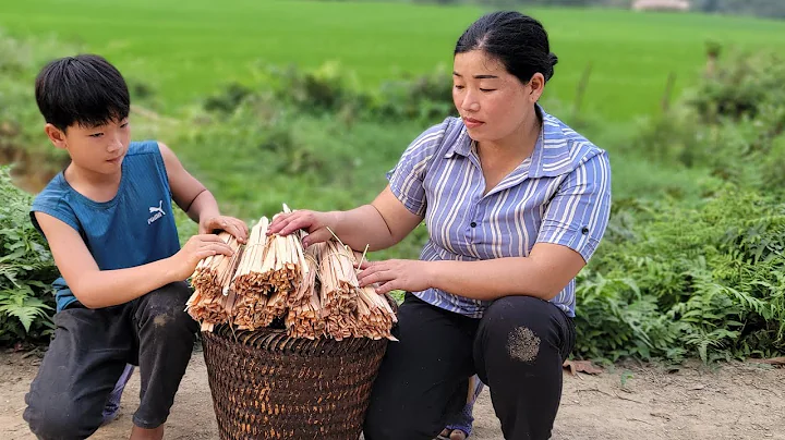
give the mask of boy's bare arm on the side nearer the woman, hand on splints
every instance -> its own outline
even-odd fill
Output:
[[[218,201],[213,194],[185,170],[174,152],[164,143],[158,143],[158,148],[169,175],[172,198],[193,221],[198,223],[198,233],[208,234],[215,230],[224,230],[244,243],[249,232],[245,222],[221,216]]]

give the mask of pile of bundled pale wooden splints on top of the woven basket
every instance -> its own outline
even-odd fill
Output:
[[[364,254],[337,237],[303,249],[304,233],[267,235],[268,227],[263,217],[244,246],[221,232],[234,254],[205,258],[196,267],[185,309],[203,331],[219,323],[255,330],[279,319],[293,338],[395,340],[392,308],[373,286],[358,282]]]

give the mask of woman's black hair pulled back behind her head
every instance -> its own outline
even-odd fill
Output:
[[[526,84],[540,72],[545,81],[553,77],[558,58],[551,52],[542,24],[520,12],[485,14],[458,38],[454,54],[482,50],[498,59],[507,72]]]

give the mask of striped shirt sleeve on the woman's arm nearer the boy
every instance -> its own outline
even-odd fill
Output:
[[[414,215],[425,215],[427,200],[423,182],[448,125],[449,122],[445,121],[423,132],[403,151],[398,164],[387,172],[392,194]]]

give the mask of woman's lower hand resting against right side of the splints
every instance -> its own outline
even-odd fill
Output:
[[[412,259],[389,259],[365,262],[358,273],[360,286],[377,283],[376,293],[385,294],[395,290],[420,292],[431,288],[428,261]]]

